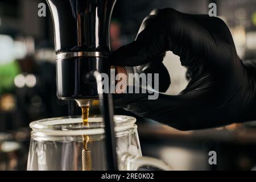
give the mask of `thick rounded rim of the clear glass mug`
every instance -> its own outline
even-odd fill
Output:
[[[114,115],[115,132],[131,129],[136,118],[126,115]],[[99,115],[89,117],[89,126],[82,125],[81,116],[40,119],[30,123],[32,133],[36,135],[70,136],[104,134],[104,121]]]

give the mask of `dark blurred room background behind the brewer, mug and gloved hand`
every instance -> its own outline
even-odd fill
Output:
[[[61,1],[61,0],[60,0]],[[0,170],[26,169],[31,121],[69,114],[73,103],[56,97],[55,51],[51,14],[38,16],[43,0],[0,0]],[[183,13],[217,15],[232,31],[242,59],[256,59],[256,0],[118,0],[112,18],[112,50],[130,43],[153,9],[172,7]],[[46,3],[47,4],[47,3]],[[189,31],[189,30],[188,30]],[[187,85],[179,57],[168,52],[164,64],[178,94]],[[97,102],[92,114],[98,114]],[[77,114],[80,111],[77,110]],[[127,114],[115,110],[115,114]],[[251,170],[256,166],[256,124],[181,132],[137,117],[143,155],[154,156],[180,170]],[[217,152],[210,166],[208,152]]]

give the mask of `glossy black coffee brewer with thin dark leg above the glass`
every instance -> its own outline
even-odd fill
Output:
[[[51,10],[57,97],[88,106],[99,98],[108,169],[117,170],[111,94],[98,94],[96,73],[110,72],[110,18],[116,0],[47,0]]]

